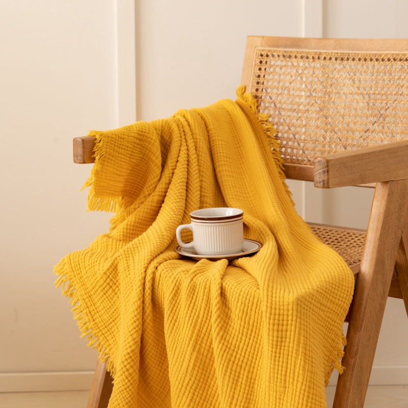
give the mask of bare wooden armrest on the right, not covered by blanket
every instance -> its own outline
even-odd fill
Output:
[[[408,140],[318,157],[314,177],[320,188],[408,179]]]

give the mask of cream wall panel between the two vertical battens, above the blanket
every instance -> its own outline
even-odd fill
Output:
[[[143,120],[235,99],[247,35],[302,34],[299,0],[137,3],[138,118]]]

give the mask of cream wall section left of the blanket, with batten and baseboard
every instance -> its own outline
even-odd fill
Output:
[[[126,5],[133,37],[123,39]],[[72,138],[135,120],[134,5],[1,2],[0,37],[0,391],[69,387],[96,354],[54,288],[53,266],[109,226],[109,215],[85,211],[90,167],[72,163]]]

